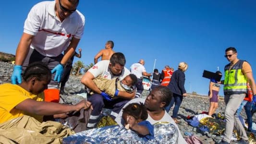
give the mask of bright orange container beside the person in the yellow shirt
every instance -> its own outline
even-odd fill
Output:
[[[59,103],[60,90],[59,89],[46,89],[44,90],[45,101]]]

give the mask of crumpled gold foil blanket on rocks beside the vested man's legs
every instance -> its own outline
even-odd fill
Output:
[[[199,122],[202,125],[206,125],[209,128],[210,133],[214,133],[214,134],[222,134],[226,126],[224,121],[217,120],[211,117],[203,118]]]

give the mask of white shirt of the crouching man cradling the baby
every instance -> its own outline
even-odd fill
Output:
[[[113,73],[110,71],[109,64],[110,60],[101,60],[90,68],[88,72],[91,72],[95,78],[99,75],[109,80],[119,77],[121,81],[125,76],[131,73],[127,68],[124,67],[120,75],[113,75]]]

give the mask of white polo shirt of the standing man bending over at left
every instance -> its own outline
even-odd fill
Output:
[[[84,26],[85,17],[79,11],[61,23],[55,12],[55,1],[43,1],[28,13],[24,33],[34,36],[30,48],[44,56],[57,57],[68,47],[73,36],[81,39]]]

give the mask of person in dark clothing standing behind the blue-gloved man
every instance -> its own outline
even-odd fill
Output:
[[[70,60],[68,60],[68,62],[66,63],[66,65],[64,67],[64,72],[61,76],[61,89],[60,89],[61,95],[67,95],[67,93],[65,93],[65,91],[64,91],[64,88],[65,88],[65,84],[67,83],[67,81],[69,79],[69,75],[70,75],[70,72],[73,67],[72,64],[73,64],[74,57],[81,58],[81,56],[82,56],[82,54],[81,54],[82,49],[78,48],[78,51],[79,51],[79,53],[77,53],[76,51],[74,52],[73,56],[70,58]]]

